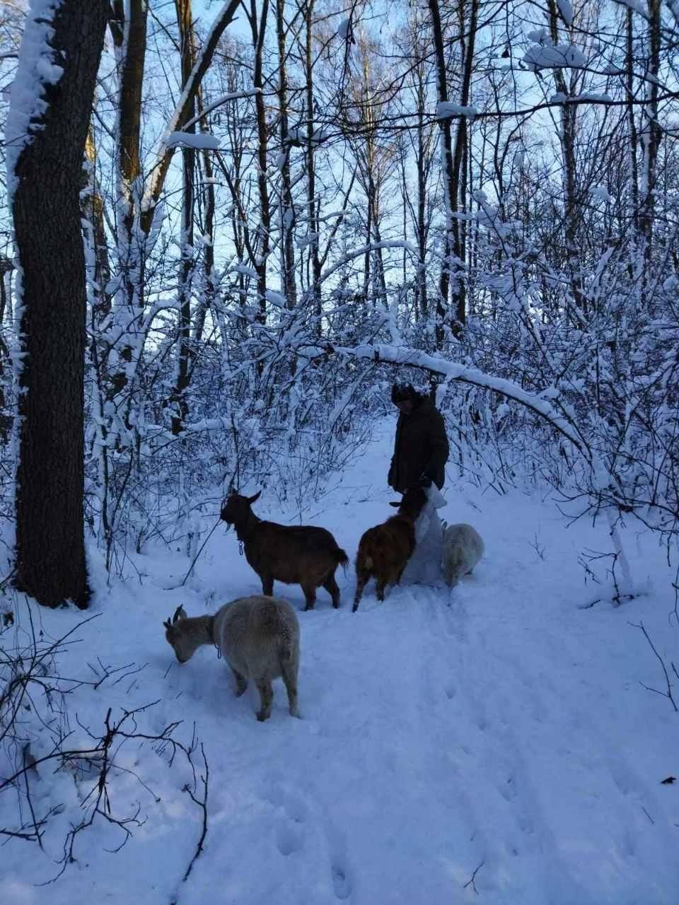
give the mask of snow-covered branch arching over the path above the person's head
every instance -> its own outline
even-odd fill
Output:
[[[374,346],[364,345],[354,348],[334,346],[331,347],[331,350],[339,355],[370,358],[373,361],[389,361],[395,365],[422,367],[435,374],[449,377],[451,380],[459,380],[461,383],[471,384],[472,386],[483,386],[485,389],[493,390],[494,393],[501,393],[508,399],[512,399],[514,402],[518,402],[531,409],[535,414],[540,415],[555,430],[566,437],[570,443],[573,443],[588,462],[592,462],[592,452],[577,426],[568,418],[565,418],[563,414],[560,414],[547,399],[540,398],[539,395],[534,393],[526,392],[518,384],[512,383],[511,380],[484,374],[483,371],[476,367],[467,367],[458,362],[446,361],[445,358],[428,355],[426,352],[416,348],[396,348],[394,346],[376,344]]]

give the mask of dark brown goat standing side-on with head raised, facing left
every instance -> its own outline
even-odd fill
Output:
[[[273,582],[301,585],[306,600],[305,610],[316,603],[316,588],[324,587],[339,606],[339,587],[335,569],[346,566],[349,557],[337,545],[330,531],[311,525],[277,525],[258,519],[251,509],[260,493],[243,497],[235,491],[226,498],[222,519],[235,526],[243,541],[245,558],[262,579],[262,592],[273,595]]]

